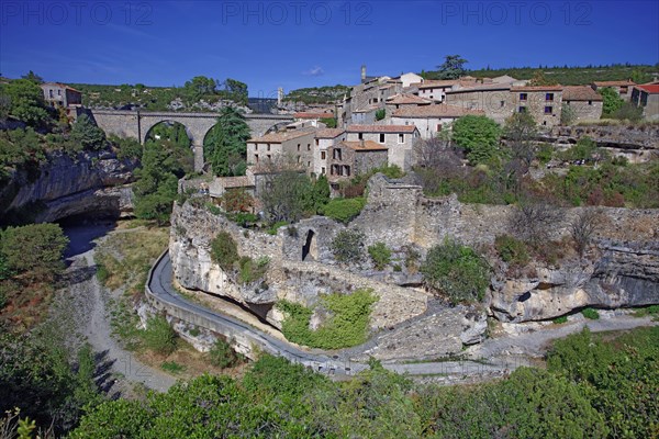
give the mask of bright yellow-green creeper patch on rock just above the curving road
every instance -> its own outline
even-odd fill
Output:
[[[316,330],[309,328],[312,309],[288,301],[277,303],[286,314],[281,331],[288,340],[321,349],[348,348],[366,341],[371,305],[378,301],[371,290],[322,295],[321,300],[332,317]]]

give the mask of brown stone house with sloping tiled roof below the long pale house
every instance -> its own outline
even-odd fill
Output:
[[[387,146],[373,140],[340,142],[331,146],[327,153],[327,180],[334,190],[338,189],[339,181],[381,168],[388,162]]]

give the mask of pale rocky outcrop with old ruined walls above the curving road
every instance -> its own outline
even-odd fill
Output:
[[[276,327],[281,326],[283,315],[272,308],[279,300],[288,300],[313,307],[321,294],[340,292],[349,294],[359,289],[370,289],[378,296],[371,313],[371,328],[396,325],[425,312],[428,295],[420,290],[405,289],[379,282],[358,273],[342,270],[330,263],[327,245],[332,234],[320,236],[306,246],[310,230],[336,233],[343,226],[327,218],[311,218],[292,227],[282,227],[272,236],[248,230],[228,222],[221,215],[210,213],[193,203],[176,205],[171,215],[169,255],[174,275],[181,286],[201,290],[239,302]],[[332,224],[331,224],[332,223]],[[321,228],[322,227],[322,228]],[[211,259],[211,241],[220,230],[232,235],[241,256],[253,259],[270,258],[267,273],[261,280],[243,284],[236,272],[225,272]]]

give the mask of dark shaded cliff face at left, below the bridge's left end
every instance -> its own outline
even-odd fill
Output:
[[[136,162],[109,151],[48,156],[37,169],[18,170],[0,189],[0,219],[18,212],[33,222],[69,216],[121,217],[132,213]]]

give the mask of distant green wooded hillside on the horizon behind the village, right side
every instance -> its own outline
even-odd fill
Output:
[[[468,70],[468,75],[477,78],[493,78],[496,76],[509,75],[517,79],[530,79],[541,70],[547,79],[551,79],[563,86],[585,85],[594,81],[615,81],[633,79],[637,83],[649,82],[654,76],[659,76],[659,64],[650,65],[623,65],[614,64],[611,66],[585,66],[585,67],[511,67],[501,69],[480,69]],[[426,79],[438,79],[439,71],[423,71],[422,76]]]

